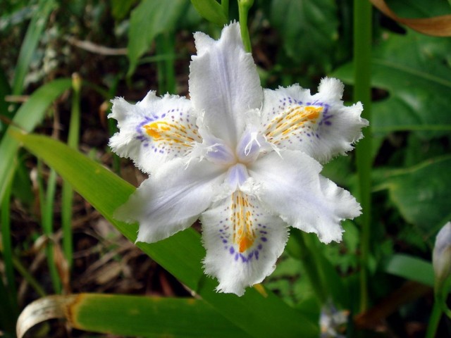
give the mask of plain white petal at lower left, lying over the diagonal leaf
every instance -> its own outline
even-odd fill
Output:
[[[208,161],[186,166],[177,158],[142,182],[114,217],[140,223],[137,242],[165,239],[192,225],[211,205],[224,181],[223,171]]]

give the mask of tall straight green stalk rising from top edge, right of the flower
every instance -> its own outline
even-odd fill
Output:
[[[371,123],[371,3],[354,0],[354,101],[364,105],[362,117]],[[369,240],[371,229],[371,124],[356,146],[362,237],[360,261],[360,311],[368,308]]]

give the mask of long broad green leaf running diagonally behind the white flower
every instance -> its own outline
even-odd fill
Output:
[[[116,208],[135,191],[132,185],[54,139],[17,131],[14,137],[68,180],[125,237],[135,242],[137,225],[113,218]],[[199,234],[192,228],[161,242],[137,243],[137,246],[252,337],[316,337],[319,334],[317,323],[311,323],[264,287],[249,288],[242,297],[216,293],[217,282],[206,277],[202,270],[205,250]]]

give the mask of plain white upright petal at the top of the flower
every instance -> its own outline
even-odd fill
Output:
[[[211,134],[235,148],[245,128],[245,115],[260,108],[263,92],[257,67],[246,53],[240,26],[224,27],[216,41],[204,33],[194,34],[197,56],[190,65],[190,97]]]

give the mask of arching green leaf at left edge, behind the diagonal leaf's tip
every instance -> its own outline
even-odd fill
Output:
[[[59,79],[44,84],[37,89],[21,106],[13,118],[13,125],[25,132],[31,132],[44,118],[47,108],[71,86],[70,79]],[[3,199],[6,186],[13,178],[16,168],[16,153],[19,143],[11,135],[5,134],[0,143],[0,201]]]

